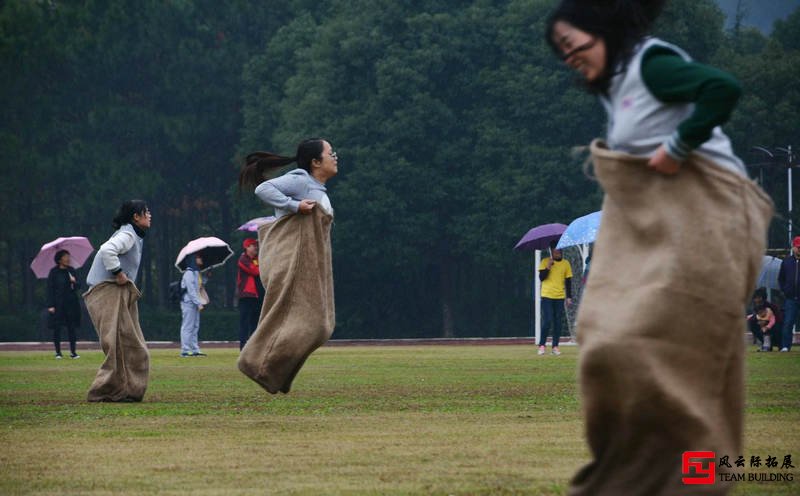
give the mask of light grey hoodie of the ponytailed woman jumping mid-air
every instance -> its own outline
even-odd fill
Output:
[[[302,200],[314,200],[333,215],[325,185],[314,179],[303,169],[294,169],[286,174],[264,181],[256,187],[256,196],[272,207],[275,217],[297,213]]]

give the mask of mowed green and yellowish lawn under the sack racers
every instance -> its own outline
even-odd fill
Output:
[[[0,494],[563,495],[589,455],[562,349],[326,347],[281,396],[236,350],[153,350],[139,404],[85,402],[100,352],[2,352]],[[800,494],[800,355],[747,360],[742,454],[791,454],[797,480],[735,494]]]

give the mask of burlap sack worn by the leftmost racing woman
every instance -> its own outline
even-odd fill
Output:
[[[84,293],[86,309],[106,358],[89,388],[89,401],[142,401],[150,372],[138,301],[142,294],[128,282],[102,282]]]

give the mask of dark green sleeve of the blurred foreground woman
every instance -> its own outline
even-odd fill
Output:
[[[708,141],[712,130],[730,119],[742,94],[730,74],[686,61],[663,47],[649,48],[642,58],[642,80],[650,92],[666,103],[694,103],[694,112],[666,143],[667,152],[683,160]]]

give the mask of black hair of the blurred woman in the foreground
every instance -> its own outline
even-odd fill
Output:
[[[547,18],[545,39],[559,53],[553,40],[553,26],[558,21],[602,38],[605,70],[587,86],[593,92],[607,93],[611,78],[627,68],[633,50],[647,36],[664,3],[666,0],[561,0]]]

